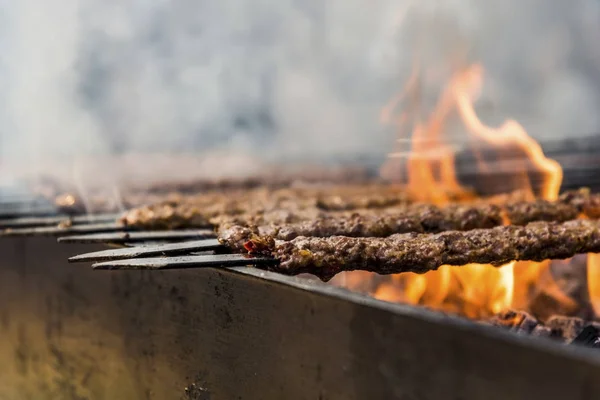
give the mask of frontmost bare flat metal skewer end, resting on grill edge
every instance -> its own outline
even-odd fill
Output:
[[[247,254],[215,254],[201,256],[173,256],[154,258],[133,258],[96,263],[94,269],[187,269],[207,267],[230,267],[248,265],[273,265],[274,258],[253,257]]]

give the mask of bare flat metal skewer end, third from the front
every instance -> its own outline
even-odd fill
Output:
[[[181,241],[214,238],[215,232],[209,229],[179,230],[179,231],[145,231],[97,233],[74,235],[58,238],[59,243],[134,243],[145,241]]]

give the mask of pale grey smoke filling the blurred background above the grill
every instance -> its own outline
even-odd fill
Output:
[[[599,7],[0,0],[0,168],[56,172],[59,157],[74,176],[92,157],[131,152],[383,156],[394,132],[379,111],[415,59],[424,69],[481,62],[486,121],[517,119],[537,138],[593,134]],[[425,108],[442,83],[424,75]],[[135,174],[94,169],[108,170]]]

